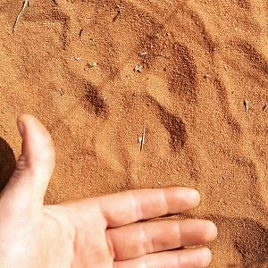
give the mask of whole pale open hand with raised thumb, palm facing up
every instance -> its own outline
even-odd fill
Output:
[[[196,207],[197,190],[141,189],[43,205],[54,170],[52,138],[29,114],[18,118],[18,128],[21,156],[0,196],[0,267],[191,268],[211,262],[208,248],[184,247],[213,241],[213,222],[140,222]]]

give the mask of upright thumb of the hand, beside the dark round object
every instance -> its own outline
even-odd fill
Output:
[[[1,198],[12,198],[23,209],[42,207],[54,170],[54,146],[46,128],[32,115],[21,114],[17,121],[22,138],[21,156]]]

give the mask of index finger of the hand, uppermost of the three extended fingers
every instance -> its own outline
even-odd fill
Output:
[[[131,190],[95,199],[108,227],[177,214],[199,205],[200,196],[192,188]]]

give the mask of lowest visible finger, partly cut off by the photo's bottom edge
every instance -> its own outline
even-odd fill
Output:
[[[204,247],[144,255],[129,261],[114,262],[113,268],[203,268],[211,260],[210,250]]]

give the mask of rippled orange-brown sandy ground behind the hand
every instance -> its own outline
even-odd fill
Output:
[[[57,151],[46,203],[194,187],[211,267],[268,267],[267,2],[29,3],[14,33],[22,3],[0,4],[2,180],[32,113]]]

